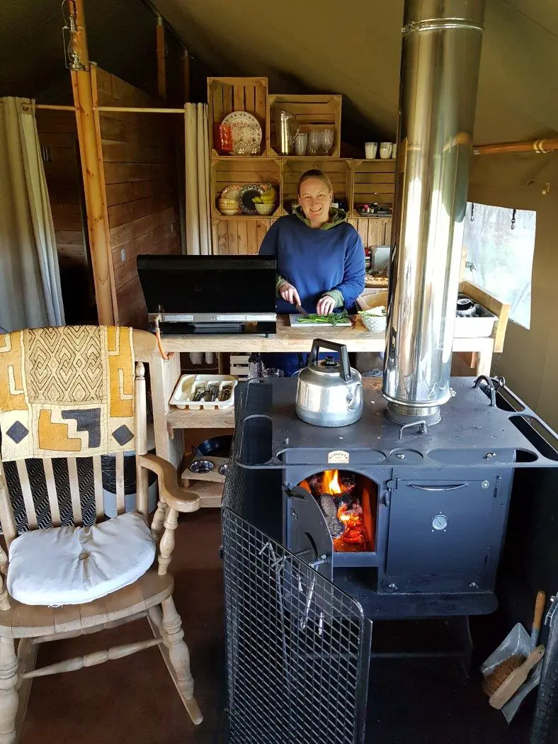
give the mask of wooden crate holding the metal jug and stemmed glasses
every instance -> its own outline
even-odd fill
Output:
[[[325,95],[286,95],[269,96],[269,147],[271,154],[278,154],[275,134],[275,108],[280,107],[295,114],[301,132],[311,129],[335,129],[333,150],[329,157],[339,158],[341,154],[341,96]]]

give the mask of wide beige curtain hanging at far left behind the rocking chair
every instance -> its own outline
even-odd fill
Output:
[[[64,324],[33,103],[0,98],[0,330]]]

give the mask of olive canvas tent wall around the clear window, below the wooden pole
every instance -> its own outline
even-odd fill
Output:
[[[546,183],[551,189],[543,196]],[[558,155],[475,158],[469,201],[536,211],[530,330],[508,324],[493,372],[558,429]]]

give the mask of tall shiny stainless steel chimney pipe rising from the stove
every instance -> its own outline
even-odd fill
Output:
[[[388,417],[449,399],[484,0],[405,0],[382,393]]]

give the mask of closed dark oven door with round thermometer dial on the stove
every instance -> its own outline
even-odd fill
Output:
[[[437,577],[442,584],[442,577],[453,577],[447,589],[478,585],[490,557],[495,501],[488,481],[398,478],[391,489],[386,574]]]

